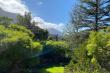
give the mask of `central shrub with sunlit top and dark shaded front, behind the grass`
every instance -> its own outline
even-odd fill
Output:
[[[42,61],[47,64],[59,64],[67,62],[68,45],[64,41],[47,41],[44,49]]]

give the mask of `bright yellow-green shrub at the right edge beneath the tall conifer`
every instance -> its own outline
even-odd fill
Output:
[[[101,68],[110,71],[110,33],[109,32],[92,32],[87,44],[88,55],[94,58]],[[89,45],[93,45],[91,47]]]

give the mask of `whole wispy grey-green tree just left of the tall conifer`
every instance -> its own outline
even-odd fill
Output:
[[[65,29],[65,39],[70,44],[70,47],[76,48],[84,42],[88,37],[88,31],[81,31],[86,27],[83,24],[85,15],[82,14],[79,5],[76,5],[70,15],[70,22]]]

